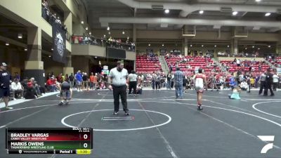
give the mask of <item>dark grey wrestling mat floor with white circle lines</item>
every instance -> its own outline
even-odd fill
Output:
[[[197,111],[195,91],[175,100],[174,91],[145,90],[128,96],[128,117],[122,110],[112,115],[112,91],[74,91],[70,105],[63,106],[57,95],[30,100],[1,109],[2,138],[6,127],[92,127],[92,154],[6,154],[1,139],[0,157],[280,157],[281,93],[243,91],[242,100],[230,100],[228,93],[205,92],[204,110]],[[268,142],[273,149],[261,154],[267,143],[258,136],[275,136]]]

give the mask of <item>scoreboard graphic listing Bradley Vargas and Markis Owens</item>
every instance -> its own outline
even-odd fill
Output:
[[[6,128],[8,154],[91,154],[91,128]]]

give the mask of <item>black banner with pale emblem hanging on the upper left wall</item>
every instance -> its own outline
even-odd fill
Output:
[[[65,31],[61,25],[53,22],[53,60],[66,62]]]

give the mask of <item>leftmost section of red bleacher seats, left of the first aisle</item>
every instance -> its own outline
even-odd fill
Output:
[[[147,55],[137,55],[136,57],[136,73],[138,74],[152,74],[153,72],[162,72],[162,67],[160,65],[157,56],[148,59]]]

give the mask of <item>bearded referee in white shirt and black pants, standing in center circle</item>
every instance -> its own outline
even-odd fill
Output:
[[[128,87],[129,77],[128,71],[124,69],[124,63],[121,61],[117,62],[117,67],[110,70],[108,75],[108,88],[113,90],[113,98],[115,109],[113,114],[118,114],[119,111],[119,96],[121,97],[123,110],[125,115],[129,115],[129,109],[127,106],[127,93],[126,89]]]

